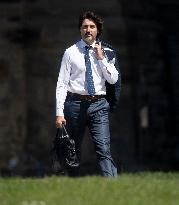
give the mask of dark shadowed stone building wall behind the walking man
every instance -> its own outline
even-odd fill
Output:
[[[177,0],[1,0],[0,170],[50,172],[55,87],[64,49],[79,39],[78,15],[104,18],[118,54],[121,100],[111,146],[124,171],[179,168],[179,3]],[[96,173],[88,132],[83,171]]]

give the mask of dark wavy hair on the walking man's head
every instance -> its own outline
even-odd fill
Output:
[[[99,17],[97,14],[95,14],[92,11],[86,11],[86,12],[82,13],[79,16],[79,23],[78,23],[79,30],[80,30],[82,23],[85,19],[90,19],[96,24],[96,27],[98,30],[97,37],[99,37],[103,32],[103,20],[101,19],[101,17]]]

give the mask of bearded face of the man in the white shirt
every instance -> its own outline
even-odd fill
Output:
[[[94,21],[84,19],[80,28],[80,34],[85,43],[91,45],[96,40],[98,34],[98,29]]]

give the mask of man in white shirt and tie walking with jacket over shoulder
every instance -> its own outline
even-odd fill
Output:
[[[120,73],[115,66],[113,50],[97,41],[102,30],[103,22],[93,12],[80,16],[81,40],[65,50],[59,71],[56,127],[66,124],[69,135],[75,140],[80,160],[81,143],[88,126],[101,175],[116,177],[117,168],[110,152],[110,106],[106,92],[107,84],[115,87],[119,82]],[[76,169],[67,171],[69,175],[79,174]]]

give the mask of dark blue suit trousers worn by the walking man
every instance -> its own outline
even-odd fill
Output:
[[[116,177],[117,168],[110,152],[110,132],[108,119],[109,104],[105,98],[96,101],[80,100],[67,96],[64,105],[65,119],[69,135],[75,140],[78,158],[81,158],[81,144],[86,126],[95,146],[101,174]],[[70,170],[75,175],[76,170]]]

